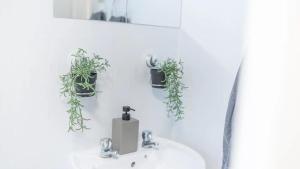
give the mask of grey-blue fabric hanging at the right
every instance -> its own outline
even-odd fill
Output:
[[[223,163],[222,169],[228,169],[230,163],[230,152],[231,152],[231,134],[232,134],[232,120],[234,116],[235,103],[238,90],[239,73],[238,71],[233,88],[231,90],[230,99],[225,118],[224,136],[223,136]]]

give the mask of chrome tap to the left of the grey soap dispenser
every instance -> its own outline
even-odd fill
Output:
[[[103,138],[100,141],[100,156],[102,158],[115,158],[119,157],[117,151],[112,150],[112,140],[111,138]]]

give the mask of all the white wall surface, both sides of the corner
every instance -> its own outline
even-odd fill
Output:
[[[110,136],[122,105],[137,109],[143,128],[199,151],[208,169],[221,165],[228,96],[242,56],[244,1],[183,2],[182,30],[53,18],[52,0],[11,0],[0,6],[0,168],[68,168],[72,151]],[[77,47],[106,56],[112,68],[103,91],[84,100],[92,130],[67,133],[58,76]],[[149,85],[146,54],[185,62],[185,120],[166,117],[162,93]],[[172,131],[172,132],[170,132]]]

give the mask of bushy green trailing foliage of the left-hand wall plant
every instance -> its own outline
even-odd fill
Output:
[[[76,87],[81,86],[83,89],[91,90],[92,95],[96,94],[95,85],[90,83],[93,73],[101,74],[110,66],[108,60],[94,54],[89,57],[87,51],[78,49],[75,54],[71,55],[71,69],[67,74],[61,75],[62,82],[61,94],[68,98],[69,109],[69,129],[68,131],[77,131],[89,129],[84,122],[89,120],[83,117],[83,105],[76,92]],[[78,80],[80,79],[80,81]]]

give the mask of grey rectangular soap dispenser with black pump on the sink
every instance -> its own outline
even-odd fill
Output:
[[[112,120],[112,148],[120,155],[137,151],[139,121],[131,118],[129,112],[135,111],[130,106],[123,106],[122,118]]]

